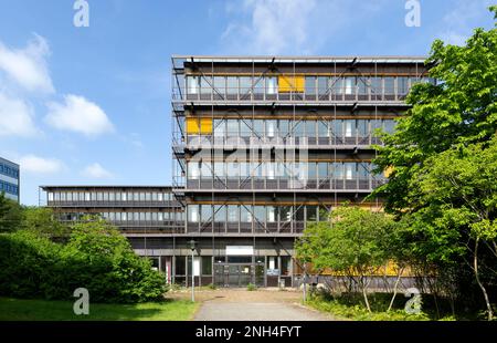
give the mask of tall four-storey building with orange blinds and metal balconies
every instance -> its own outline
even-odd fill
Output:
[[[414,56],[172,56],[173,193],[187,212],[176,260],[193,239],[202,283],[297,284],[306,222],[346,201],[381,206],[364,200],[385,181],[374,132],[394,129],[424,74]]]

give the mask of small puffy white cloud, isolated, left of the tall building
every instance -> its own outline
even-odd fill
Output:
[[[114,126],[105,112],[83,96],[68,94],[64,96],[64,103],[50,102],[47,107],[45,122],[55,128],[87,136],[114,132]]]

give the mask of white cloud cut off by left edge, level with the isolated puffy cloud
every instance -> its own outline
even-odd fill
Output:
[[[27,102],[0,92],[0,137],[36,135],[33,117],[34,111]]]

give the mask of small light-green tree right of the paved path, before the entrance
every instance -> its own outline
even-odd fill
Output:
[[[309,224],[297,241],[297,258],[316,269],[331,269],[356,280],[371,312],[369,277],[388,262],[382,248],[392,226],[391,218],[381,212],[351,206],[337,208],[328,222]]]

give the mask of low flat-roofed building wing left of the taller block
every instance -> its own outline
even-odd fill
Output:
[[[183,211],[171,187],[163,186],[41,186],[42,202],[53,208],[62,222],[99,215],[128,237],[135,251],[152,260],[170,282],[172,251],[155,237],[173,239],[184,228]]]

